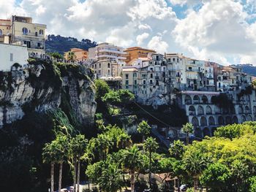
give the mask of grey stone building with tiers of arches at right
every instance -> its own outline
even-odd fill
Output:
[[[185,110],[189,123],[193,124],[195,137],[213,136],[219,126],[256,120],[255,91],[239,97],[240,92],[241,90],[222,93],[232,102],[232,107],[226,108],[213,103],[213,97],[219,96],[220,92],[178,93],[178,104]]]

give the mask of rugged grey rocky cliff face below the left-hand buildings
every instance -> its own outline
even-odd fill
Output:
[[[83,66],[34,60],[26,69],[0,72],[0,127],[20,120],[26,112],[58,107],[71,121],[90,125],[97,107],[92,78]]]

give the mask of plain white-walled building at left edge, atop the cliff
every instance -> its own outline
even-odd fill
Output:
[[[29,52],[26,47],[0,43],[0,71],[10,71],[12,66],[28,64]]]

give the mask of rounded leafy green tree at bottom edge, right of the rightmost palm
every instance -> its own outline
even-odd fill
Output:
[[[230,169],[225,164],[214,163],[208,166],[200,177],[200,183],[211,188],[211,191],[225,191],[230,180]]]

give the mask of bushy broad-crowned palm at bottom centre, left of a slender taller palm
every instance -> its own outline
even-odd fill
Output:
[[[141,153],[137,146],[122,151],[121,165],[131,176],[131,192],[135,191],[135,172],[142,166]]]

